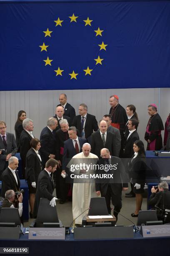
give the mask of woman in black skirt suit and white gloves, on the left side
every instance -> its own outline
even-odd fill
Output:
[[[38,154],[40,149],[40,140],[37,138],[32,138],[30,141],[31,148],[28,150],[26,155],[26,167],[25,167],[25,179],[28,182],[29,188],[29,202],[30,202],[30,218],[32,218],[36,184],[38,175],[41,172],[41,157]]]

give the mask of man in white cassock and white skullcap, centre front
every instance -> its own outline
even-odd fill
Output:
[[[89,143],[84,143],[82,146],[82,152],[73,156],[72,159],[81,159],[81,162],[84,160],[84,162],[91,163],[92,161],[90,159],[96,159],[94,163],[97,162],[98,157],[95,154],[90,153],[91,146]],[[89,162],[88,162],[89,159]],[[86,169],[80,169],[78,172],[75,172],[75,174],[87,174],[89,175],[89,171],[87,172]],[[83,182],[84,181],[84,182]],[[77,182],[77,179],[76,179]],[[85,209],[88,209],[90,206],[90,199],[92,197],[97,197],[95,192],[95,180],[89,180],[88,179],[81,179],[81,182],[83,183],[75,183],[73,184],[73,190],[72,190],[72,215],[73,220],[77,218],[78,215],[80,215]],[[75,220],[75,224],[82,224],[82,218],[84,215],[88,213],[88,210],[84,212],[84,214],[80,215],[79,218]]]

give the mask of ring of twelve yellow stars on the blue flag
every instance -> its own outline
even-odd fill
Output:
[[[70,23],[71,22],[77,22],[77,18],[78,16],[75,16],[74,13],[72,14],[72,16],[69,16],[70,18]],[[58,17],[57,20],[54,20],[55,22],[55,26],[61,26],[62,27],[62,22],[64,20],[60,20],[60,18]],[[85,22],[85,26],[92,26],[91,23],[93,20],[90,20],[89,17],[87,17],[87,20],[83,20]],[[94,30],[94,32],[96,33],[95,36],[102,36],[102,32],[104,30],[101,30],[99,27],[97,28],[97,30]],[[45,37],[49,36],[51,37],[51,33],[53,31],[49,31],[49,28],[47,28],[46,31],[42,31],[43,33],[45,33]],[[105,50],[106,51],[106,47],[108,44],[105,44],[103,41],[101,44],[98,44],[98,46],[100,46],[100,51],[101,50]],[[41,48],[41,51],[47,51],[47,47],[49,47],[49,45],[45,45],[45,42],[43,42],[42,45],[39,46]],[[100,64],[102,65],[102,61],[104,59],[101,59],[100,56],[98,55],[97,59],[94,59],[96,61],[95,65]],[[49,57],[47,56],[47,59],[43,60],[45,62],[45,66],[47,65],[51,65],[51,62],[53,61],[53,59],[49,59]],[[85,76],[86,75],[90,75],[91,76],[91,72],[93,69],[90,69],[89,66],[87,66],[87,69],[83,69],[83,71],[85,72]],[[60,69],[60,67],[58,67],[58,69],[54,70],[54,72],[56,72],[56,76],[60,75],[62,76],[62,72],[64,72],[63,69]],[[75,73],[75,71],[73,70],[72,73],[69,74],[70,75],[70,79],[76,79],[77,80],[77,73]]]

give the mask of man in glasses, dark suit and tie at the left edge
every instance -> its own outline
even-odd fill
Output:
[[[8,166],[8,160],[11,156],[15,156],[18,150],[13,133],[7,133],[6,129],[6,123],[0,121],[0,149],[3,149],[0,154],[0,180],[2,172]]]

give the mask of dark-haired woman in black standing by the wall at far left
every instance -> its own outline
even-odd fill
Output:
[[[15,123],[15,138],[16,138],[16,143],[18,147],[18,152],[20,152],[20,135],[23,131],[23,120],[26,118],[26,112],[24,110],[20,110],[18,112],[18,119]]]

